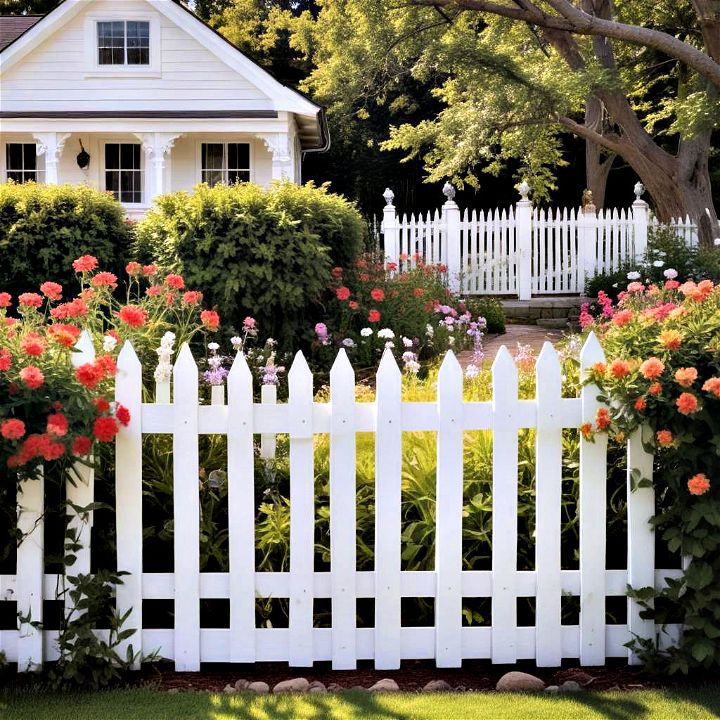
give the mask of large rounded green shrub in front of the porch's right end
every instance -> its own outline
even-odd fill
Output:
[[[255,315],[285,344],[312,320],[330,268],[361,250],[360,214],[327,186],[249,183],[159,198],[138,225],[138,252],[182,272],[239,328]]]

